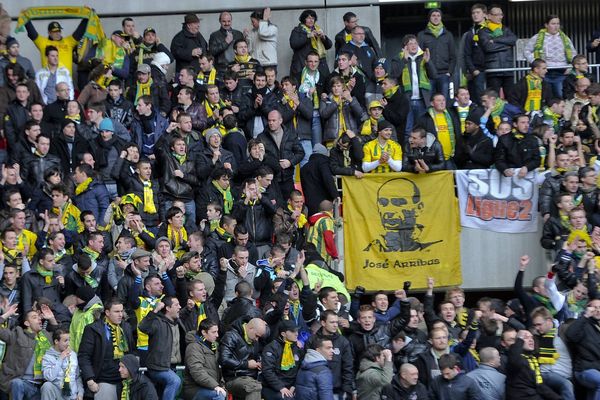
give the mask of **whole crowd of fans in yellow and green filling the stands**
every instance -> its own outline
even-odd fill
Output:
[[[0,398],[600,399],[600,84],[558,16],[516,83],[501,7],[471,16],[463,53],[433,9],[386,59],[305,10],[289,73],[269,8],[169,47],[125,18],[87,58],[88,19],[28,20],[38,70],[4,38]],[[531,292],[526,255],[506,303],[348,292],[335,176],[475,168],[543,174]]]

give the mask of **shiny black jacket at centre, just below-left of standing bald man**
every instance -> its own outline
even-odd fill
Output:
[[[250,242],[258,247],[271,243],[273,216],[276,210],[275,205],[263,196],[254,204],[245,204],[243,200],[238,201],[233,209],[233,216],[238,224],[246,227]]]

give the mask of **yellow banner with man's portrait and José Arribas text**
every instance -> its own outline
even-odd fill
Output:
[[[458,202],[451,171],[343,177],[346,285],[367,290],[459,285]]]

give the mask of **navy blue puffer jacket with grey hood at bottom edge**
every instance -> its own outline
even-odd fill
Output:
[[[296,400],[333,399],[333,376],[327,360],[316,350],[308,350],[296,377]]]

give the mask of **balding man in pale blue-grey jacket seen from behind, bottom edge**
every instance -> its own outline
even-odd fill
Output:
[[[484,399],[503,400],[506,376],[498,372],[500,353],[493,347],[479,350],[479,368],[467,374],[477,382]]]

